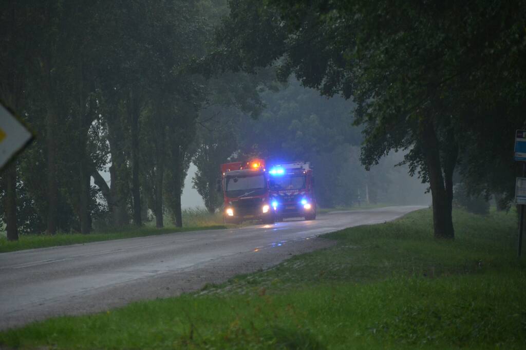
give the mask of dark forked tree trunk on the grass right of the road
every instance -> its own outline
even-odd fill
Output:
[[[420,125],[422,150],[428,168],[431,196],[433,198],[433,229],[436,238],[454,238],[452,210],[452,169],[446,172],[446,184],[442,176],[439,141],[432,120]],[[454,168],[454,165],[452,166]]]

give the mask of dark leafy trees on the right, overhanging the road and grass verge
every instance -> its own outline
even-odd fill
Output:
[[[356,102],[369,168],[407,151],[429,183],[434,234],[453,238],[453,174],[471,193],[513,194],[526,108],[526,7],[508,2],[232,0],[210,64],[278,66]]]

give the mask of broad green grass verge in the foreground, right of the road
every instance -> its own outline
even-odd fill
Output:
[[[59,317],[0,333],[38,349],[523,349],[526,270],[517,216],[454,211],[456,240],[431,212],[326,235],[293,257],[178,298]]]

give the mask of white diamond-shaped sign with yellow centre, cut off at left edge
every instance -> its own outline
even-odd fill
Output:
[[[31,132],[0,104],[0,169],[32,138]]]

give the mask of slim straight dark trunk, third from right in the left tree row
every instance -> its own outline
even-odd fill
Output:
[[[140,182],[139,182],[139,102],[133,90],[130,90],[128,99],[128,116],[131,129],[131,192],[133,195],[133,221],[137,226],[143,225],[141,219],[140,205]]]

